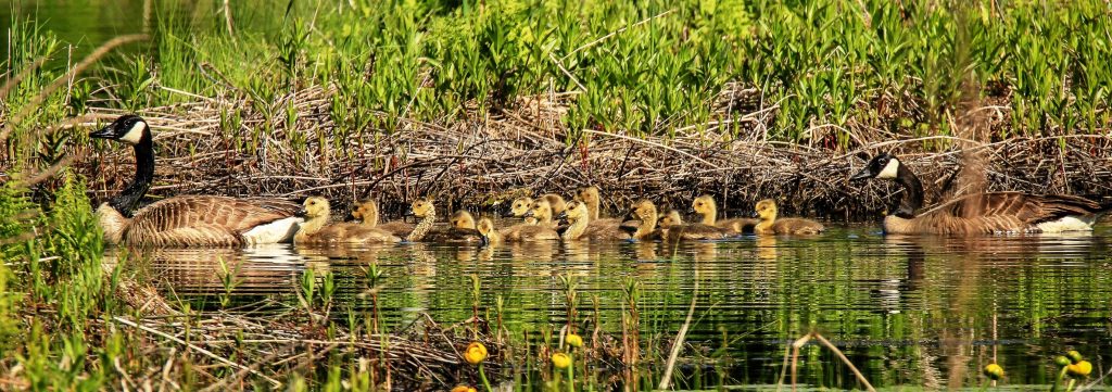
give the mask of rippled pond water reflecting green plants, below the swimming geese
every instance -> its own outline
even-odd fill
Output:
[[[359,296],[366,290],[363,269],[377,262],[391,325],[423,313],[440,323],[467,320],[469,277],[477,274],[483,306],[493,309],[502,296],[507,328],[518,333],[565,322],[562,275],[579,282],[580,316],[593,316],[597,296],[600,328],[614,334],[620,332],[625,279],[643,284],[643,333],[667,336],[683,324],[697,284],[696,323],[687,339],[709,355],[725,334],[731,361],[719,369],[727,385],[775,383],[786,342],[812,329],[842,348],[876,386],[944,388],[947,380],[975,385],[979,369],[992,358],[1007,370],[1011,385],[1048,384],[1051,360],[1069,349],[1089,356],[1094,372],[1108,366],[1110,229],[945,239],[834,225],[820,237],[693,242],[674,253],[655,243],[556,242],[162,250],[145,268],[177,295],[210,309],[222,290],[217,258],[238,265],[239,303],[296,304],[306,271],[331,272],[339,306],[360,311],[367,306]],[[855,385],[828,351],[808,348],[801,359],[801,382]],[[713,371],[703,368],[684,366],[682,375]]]

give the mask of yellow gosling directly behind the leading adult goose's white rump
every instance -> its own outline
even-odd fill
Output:
[[[328,200],[320,197],[305,199],[301,214],[306,221],[294,235],[295,244],[310,243],[369,243],[399,242],[400,238],[383,230],[368,228],[356,223],[328,224],[330,207]]]

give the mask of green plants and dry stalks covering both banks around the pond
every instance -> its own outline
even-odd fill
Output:
[[[129,151],[87,137],[123,112],[156,131],[156,197],[373,192],[395,209],[434,194],[494,208],[595,184],[610,209],[709,192],[732,210],[777,198],[790,213],[856,219],[893,197],[845,183],[862,152],[881,150],[920,169],[935,200],[969,187],[1112,194],[1103,1],[145,4],[142,43],[83,61],[39,21],[10,26],[0,389],[448,389],[534,375],[549,389],[649,389],[683,351],[674,331],[641,321],[632,280],[622,328],[606,333],[598,320],[582,330],[598,312],[564,278],[569,321],[534,331],[542,343],[500,325],[477,277],[471,319],[409,330],[342,313],[331,275],[311,272],[299,305],[274,316],[163,300],[128,272],[138,258],[102,263],[90,207],[131,175]],[[471,341],[484,343],[476,366]]]

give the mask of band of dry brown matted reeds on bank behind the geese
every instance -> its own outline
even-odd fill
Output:
[[[854,219],[883,211],[896,197],[888,185],[846,181],[865,163],[864,153],[876,151],[900,153],[935,201],[961,192],[952,179],[961,169],[962,151],[983,157],[986,163],[977,169],[989,191],[1112,194],[1109,134],[981,143],[942,135],[892,140],[897,135],[865,125],[825,124],[814,127],[806,142],[783,143],[768,137],[775,104],[766,105],[756,90],[738,86],[713,103],[718,114],[706,124],[681,128],[667,138],[584,130],[573,144],[566,142],[569,131],[560,119],[574,94],[519,98],[513,109],[485,118],[445,123],[400,119],[394,132],[368,129],[345,137],[327,114],[334,93],[310,87],[274,102],[275,108],[296,108],[290,129],[282,125],[285,111],[274,111],[282,119],[267,119],[236,100],[140,111],[156,130],[159,152],[151,194],[321,194],[337,208],[370,194],[385,212],[397,213],[421,195],[435,195],[447,210],[481,210],[520,194],[570,195],[593,184],[603,190],[610,210],[624,210],[639,198],[686,210],[691,199],[711,193],[729,215],[775,198],[788,213]],[[224,129],[221,114],[232,108],[241,109],[241,127]],[[95,110],[107,119],[120,113]],[[1006,119],[984,121],[992,129]],[[838,132],[851,133],[850,150],[827,145]],[[254,152],[248,144],[256,147]],[[932,152],[924,150],[926,144],[950,149]],[[130,179],[127,149],[85,157],[78,168],[97,179],[91,188],[98,198],[113,194]]]

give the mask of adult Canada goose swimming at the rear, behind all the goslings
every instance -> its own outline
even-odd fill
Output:
[[[973,193],[921,212],[922,182],[890,153],[877,154],[850,180],[864,179],[894,180],[904,189],[898,209],[884,218],[886,233],[973,235],[1088,231],[1108,212],[1108,207],[1085,198],[1021,192]]]

